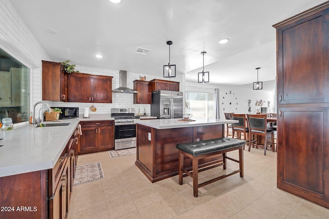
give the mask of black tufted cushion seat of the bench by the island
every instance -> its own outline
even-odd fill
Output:
[[[212,153],[221,151],[224,149],[240,147],[246,144],[246,141],[230,138],[221,137],[210,140],[203,140],[199,142],[190,142],[176,145],[176,148],[186,153],[192,154],[193,156]]]

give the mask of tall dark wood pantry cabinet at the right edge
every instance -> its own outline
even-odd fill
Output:
[[[329,2],[277,29],[277,187],[329,208]]]

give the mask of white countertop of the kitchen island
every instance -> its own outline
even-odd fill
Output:
[[[162,118],[156,120],[140,120],[137,124],[149,126],[156,129],[172,129],[194,126],[220,125],[227,123],[237,123],[237,120],[222,120],[213,118],[193,118],[195,121],[179,121],[179,118]]]

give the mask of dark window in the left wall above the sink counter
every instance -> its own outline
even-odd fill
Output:
[[[0,49],[0,119],[25,122],[30,110],[30,69]]]

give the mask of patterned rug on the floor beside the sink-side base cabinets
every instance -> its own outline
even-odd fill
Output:
[[[100,162],[77,166],[76,178],[73,185],[77,186],[100,180],[101,178],[104,178],[104,174]]]

